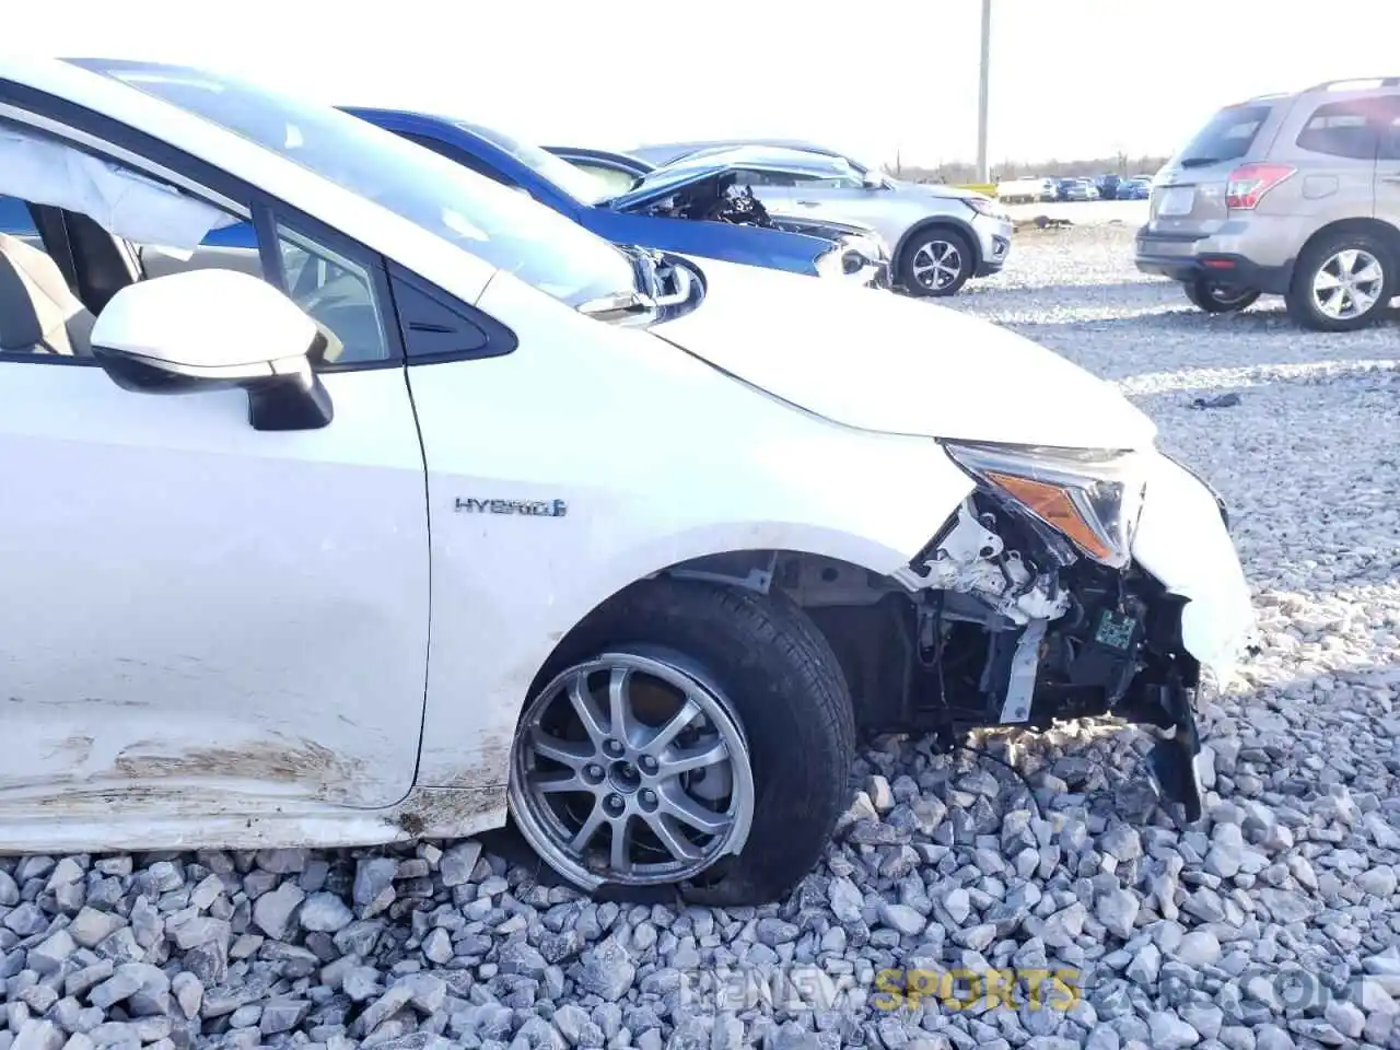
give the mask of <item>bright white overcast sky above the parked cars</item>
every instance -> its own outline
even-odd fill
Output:
[[[993,3],[994,165],[1169,153],[1222,104],[1400,74],[1400,0]],[[976,155],[980,0],[8,7],[6,46],[213,66],[539,143],[771,134],[875,161]]]

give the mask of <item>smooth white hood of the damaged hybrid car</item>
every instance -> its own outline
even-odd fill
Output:
[[[808,412],[862,430],[1063,448],[1148,448],[1110,384],[932,302],[697,260],[708,295],[651,330]]]

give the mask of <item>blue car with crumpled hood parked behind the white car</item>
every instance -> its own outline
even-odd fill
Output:
[[[643,193],[610,195],[568,161],[480,125],[400,109],[342,109],[524,190],[617,245],[872,286],[888,283],[888,252],[872,231],[809,220],[802,221],[802,232],[784,230],[783,220],[773,220],[750,192],[734,185],[734,172],[699,183],[687,172],[668,192],[651,192],[652,182]]]

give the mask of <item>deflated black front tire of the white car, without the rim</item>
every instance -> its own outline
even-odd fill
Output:
[[[554,675],[613,647],[671,651],[727,694],[748,741],[753,822],[738,855],[682,886],[694,903],[760,904],[784,896],[822,858],[850,804],[855,717],[836,654],[781,594],[658,578],[633,585],[574,630],[540,671]],[[605,896],[629,890],[605,885]]]

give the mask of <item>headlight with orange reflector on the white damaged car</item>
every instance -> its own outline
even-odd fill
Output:
[[[979,486],[1030,514],[1095,561],[1123,568],[1147,483],[1135,452],[944,441]]]

